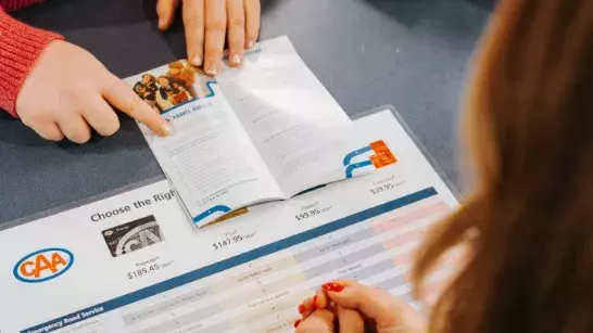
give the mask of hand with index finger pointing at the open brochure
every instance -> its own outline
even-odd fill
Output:
[[[156,135],[169,132],[167,123],[92,54],[65,41],[51,42],[25,79],[16,99],[23,124],[47,140],[90,139],[119,128],[112,106],[143,123]]]

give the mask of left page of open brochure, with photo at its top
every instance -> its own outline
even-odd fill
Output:
[[[177,63],[185,71],[195,71],[185,62]],[[147,77],[154,78],[155,94],[163,92],[163,98],[167,98],[167,89],[174,89],[166,88],[169,82],[188,87],[182,88],[185,99],[173,92],[171,104],[153,104],[172,124],[172,136],[160,138],[140,127],[194,226],[207,225],[243,206],[282,198],[282,191],[216,82],[201,73],[188,75],[193,81],[182,80],[171,71],[169,64],[127,80],[138,85]],[[197,91],[204,82],[210,92],[200,97]]]

